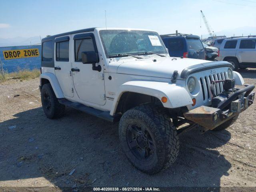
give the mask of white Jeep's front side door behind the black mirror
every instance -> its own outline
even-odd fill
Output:
[[[91,102],[94,104],[104,105],[105,87],[103,78],[103,63],[100,60],[96,65],[101,65],[102,71],[92,70],[92,64],[82,63],[82,52],[96,51],[98,52],[94,34],[83,33],[72,35],[72,74],[74,88],[80,100]]]

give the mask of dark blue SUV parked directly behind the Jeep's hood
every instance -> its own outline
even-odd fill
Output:
[[[166,34],[161,38],[171,57],[205,59],[204,46],[199,36],[189,34]]]

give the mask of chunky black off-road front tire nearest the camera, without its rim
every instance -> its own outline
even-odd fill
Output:
[[[179,139],[176,127],[167,116],[164,108],[145,104],[126,111],[119,122],[119,138],[128,160],[139,170],[147,174],[155,174],[168,168],[176,160],[179,153]],[[126,139],[130,124],[140,124],[147,129],[154,143],[154,153],[150,161],[142,161],[129,148]]]

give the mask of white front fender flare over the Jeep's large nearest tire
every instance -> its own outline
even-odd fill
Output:
[[[115,113],[118,102],[124,92],[154,96],[160,101],[165,96],[168,99],[166,103],[162,103],[165,108],[177,108],[193,103],[186,89],[176,84],[154,81],[129,81],[122,84],[116,93],[110,115]]]

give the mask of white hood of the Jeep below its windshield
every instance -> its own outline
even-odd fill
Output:
[[[116,66],[116,72],[120,74],[151,76],[160,78],[172,78],[174,71],[177,70],[177,79],[182,79],[180,78],[180,74],[185,68],[196,64],[203,64],[208,62],[211,61],[190,58],[154,57],[129,60],[120,59],[116,62],[110,63],[109,66],[112,65],[112,67],[110,67],[111,71],[114,70],[113,67]]]

